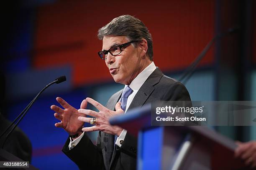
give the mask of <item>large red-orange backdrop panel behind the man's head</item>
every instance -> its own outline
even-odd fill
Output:
[[[184,69],[214,35],[213,0],[59,1],[39,7],[33,65],[70,65],[75,86],[111,79],[97,51],[97,30],[113,18],[133,15],[153,36],[154,62],[162,70]],[[211,49],[201,65],[213,63]]]

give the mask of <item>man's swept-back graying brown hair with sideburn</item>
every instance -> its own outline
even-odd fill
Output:
[[[98,30],[98,38],[103,39],[104,36],[126,36],[130,41],[139,41],[145,38],[148,42],[147,55],[149,59],[153,60],[153,42],[148,28],[141,20],[131,15],[121,15],[114,18],[110,23]]]

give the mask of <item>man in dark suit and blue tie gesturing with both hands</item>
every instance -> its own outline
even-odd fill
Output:
[[[134,170],[137,139],[127,130],[110,125],[110,117],[156,100],[190,100],[189,93],[182,83],[165,76],[155,66],[152,37],[141,20],[131,15],[114,18],[99,29],[98,37],[102,40],[98,55],[105,60],[115,82],[125,87],[110,97],[106,107],[87,97],[77,110],[57,97],[64,109],[51,106],[54,116],[61,120],[55,126],[69,133],[63,152],[80,169]],[[88,102],[99,112],[87,110]],[[94,126],[83,128],[84,122]],[[96,146],[86,135],[95,130],[99,130]]]

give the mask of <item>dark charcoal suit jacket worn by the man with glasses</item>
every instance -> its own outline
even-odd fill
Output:
[[[178,90],[177,90],[178,89]],[[115,109],[122,94],[116,92],[106,107]],[[175,98],[174,98],[175,97]],[[148,77],[138,90],[128,110],[141,107],[157,100],[190,100],[186,87],[170,77],[164,75],[159,68]],[[63,152],[78,165],[80,169],[88,170],[135,170],[137,138],[127,132],[122,146],[114,150],[114,135],[99,132],[97,145],[93,145],[85,134],[72,150],[69,150],[69,138],[64,145]],[[114,150],[114,151],[113,151]]]

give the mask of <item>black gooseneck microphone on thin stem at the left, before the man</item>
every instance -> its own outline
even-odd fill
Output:
[[[26,113],[28,112],[28,110],[30,109],[30,107],[34,104],[34,102],[36,101],[36,99],[39,97],[39,95],[41,95],[42,92],[44,92],[44,90],[46,90],[46,88],[48,88],[49,86],[53,85],[53,84],[59,84],[61,82],[66,81],[66,76],[61,76],[56,78],[53,82],[50,82],[48,85],[46,85],[37,95],[35,98],[33,98],[33,100],[25,107],[25,109],[15,118],[15,120],[13,120],[13,122],[11,123],[11,125],[1,134],[0,138],[2,138],[2,136],[8,131],[8,129],[10,129],[14,122],[16,122],[18,119],[18,122],[15,123],[15,125],[13,126],[13,128],[10,130],[10,132],[8,133],[8,135],[6,135],[5,140],[3,142],[2,145],[2,149],[5,145],[6,140],[8,139],[8,137],[10,136],[10,134],[13,132],[13,130],[16,128],[16,126],[20,123],[20,121],[23,119],[23,117],[26,115]]]

